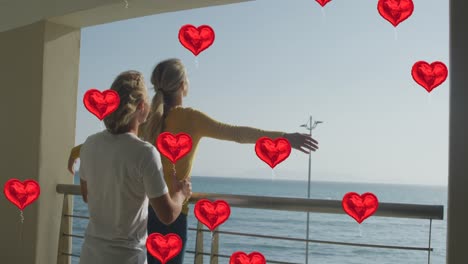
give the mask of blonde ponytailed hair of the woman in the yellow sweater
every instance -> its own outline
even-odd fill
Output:
[[[188,83],[184,64],[179,59],[160,62],[151,74],[151,83],[156,92],[146,123],[140,127],[141,138],[154,144],[163,131],[167,112],[174,106],[175,95]]]

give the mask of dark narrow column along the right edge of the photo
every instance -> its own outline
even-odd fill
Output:
[[[450,1],[447,264],[468,263],[468,2]]]

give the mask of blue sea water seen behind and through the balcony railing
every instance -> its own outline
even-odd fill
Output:
[[[227,179],[192,177],[194,192],[265,195],[281,197],[307,197],[307,182],[280,180]],[[324,183],[311,184],[311,198],[341,200],[347,192],[372,192],[380,202],[444,205],[446,211],[447,188],[409,185]],[[81,197],[75,197],[74,213],[87,215]],[[232,208],[231,217],[220,230],[291,238],[305,238],[306,213]],[[446,217],[444,217],[445,219]],[[87,220],[74,219],[73,233],[83,234]],[[189,227],[196,227],[193,205],[189,214]],[[204,249],[209,252],[210,235],[205,233]],[[393,246],[427,247],[429,220],[370,217],[361,225],[348,215],[310,214],[310,239],[385,244]],[[432,223],[431,263],[445,264],[446,221]],[[79,254],[82,239],[73,239],[73,253]],[[195,232],[189,231],[188,250],[195,248]],[[219,253],[231,255],[234,251],[259,251],[268,260],[305,263],[305,243],[262,238],[220,235]],[[374,249],[328,244],[309,244],[309,263],[317,264],[424,264],[426,251]],[[72,258],[72,263],[78,263]],[[204,262],[209,263],[209,256]],[[220,258],[219,263],[229,260]],[[193,263],[193,255],[186,253],[185,263]]]

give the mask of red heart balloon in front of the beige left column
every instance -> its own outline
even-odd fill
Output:
[[[35,180],[21,182],[18,179],[10,179],[5,183],[3,193],[11,203],[23,210],[39,198],[41,188]]]

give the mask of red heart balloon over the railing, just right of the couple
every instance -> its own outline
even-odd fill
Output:
[[[231,215],[231,207],[223,200],[211,202],[201,199],[195,204],[195,217],[211,231],[228,220]]]

